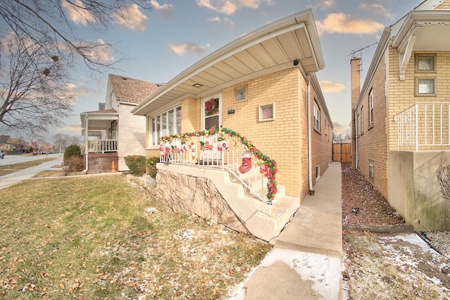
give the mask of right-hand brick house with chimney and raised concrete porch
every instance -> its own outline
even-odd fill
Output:
[[[353,166],[416,230],[450,230],[437,169],[450,158],[450,1],[386,27],[360,89],[352,58]]]

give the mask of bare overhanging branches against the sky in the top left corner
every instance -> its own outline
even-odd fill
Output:
[[[0,16],[8,29],[0,31],[11,30],[23,49],[30,40],[37,45],[45,41],[42,48],[49,51],[47,56],[58,56],[67,63],[81,57],[89,69],[102,72],[113,64],[103,54],[114,45],[102,39],[83,41],[75,24],[98,33],[111,24],[127,26],[134,7],[151,10],[147,0],[2,0]]]

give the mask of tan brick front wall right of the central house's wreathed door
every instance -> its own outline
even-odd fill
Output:
[[[257,149],[278,164],[277,181],[288,194],[300,196],[300,107],[298,70],[295,68],[256,78],[222,92],[223,107],[234,106],[234,114],[224,109],[223,126],[240,132]],[[247,85],[247,100],[235,101],[235,89]],[[275,105],[275,120],[259,122],[259,106]]]

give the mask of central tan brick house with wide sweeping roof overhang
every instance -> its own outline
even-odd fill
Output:
[[[277,182],[298,208],[332,159],[333,123],[315,75],[323,68],[312,11],[302,11],[214,51],[131,112],[146,116],[147,156],[160,156],[166,135],[219,127],[239,132],[276,161]],[[170,142],[172,150],[183,146]]]

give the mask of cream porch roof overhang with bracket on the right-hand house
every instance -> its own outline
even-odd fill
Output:
[[[449,51],[450,11],[411,11],[392,40],[399,52],[399,79],[404,80],[413,51]]]

